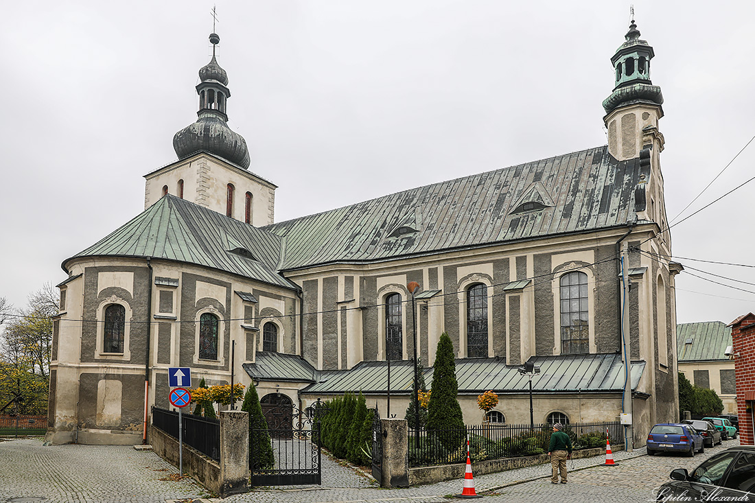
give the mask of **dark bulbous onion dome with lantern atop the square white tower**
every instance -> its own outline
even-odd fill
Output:
[[[220,37],[212,33],[210,42],[212,59],[199,69],[201,82],[196,86],[198,118],[174,135],[173,149],[178,159],[205,151],[246,169],[250,163],[246,140],[227,125],[227,99],[231,95],[227,88],[228,76],[215,58],[215,46],[220,43]]]

